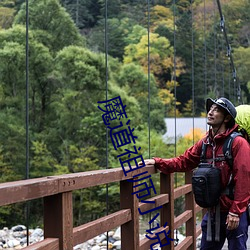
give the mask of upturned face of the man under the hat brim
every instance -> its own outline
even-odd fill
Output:
[[[207,113],[207,124],[216,128],[224,122],[224,119],[224,110],[220,106],[213,104]]]

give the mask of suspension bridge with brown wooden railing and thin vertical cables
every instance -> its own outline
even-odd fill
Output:
[[[149,1],[148,1],[149,2]],[[173,1],[175,6],[175,1]],[[105,1],[107,7],[107,1]],[[204,1],[205,3],[205,1]],[[230,61],[232,71],[232,78],[236,86],[235,96],[241,102],[241,87],[236,74],[236,68],[233,60],[232,50],[229,43],[225,19],[222,13],[220,1],[217,1],[219,14],[220,14],[220,28],[224,35],[227,47],[227,56]],[[148,4],[149,6],[149,4]],[[150,11],[149,11],[150,12]],[[198,217],[202,216],[206,211],[199,207],[193,197],[191,177],[192,173],[185,173],[185,184],[175,187],[174,174],[165,175],[158,173],[154,166],[146,166],[141,169],[136,169],[132,173],[124,175],[123,170],[119,168],[107,168],[103,170],[78,172],[72,174],[63,174],[58,176],[47,176],[42,178],[29,178],[29,37],[28,37],[28,1],[26,5],[27,22],[26,22],[26,141],[27,141],[27,165],[26,165],[26,179],[6,182],[0,184],[0,206],[13,205],[19,203],[29,203],[36,199],[42,199],[43,204],[43,227],[44,227],[44,240],[28,245],[23,248],[25,250],[72,250],[74,246],[86,242],[100,234],[107,234],[114,228],[121,228],[121,249],[122,250],[148,250],[152,247],[161,245],[160,249],[199,249],[199,237],[201,236],[201,227]],[[150,16],[148,15],[148,18]],[[174,20],[175,22],[175,20]],[[148,25],[150,19],[148,19]],[[107,25],[107,24],[105,24]],[[174,24],[175,28],[175,24]],[[107,30],[107,26],[105,27]],[[148,31],[150,26],[148,26]],[[149,34],[149,32],[148,32]],[[174,32],[175,34],[175,32]],[[106,37],[105,33],[105,39]],[[173,39],[175,45],[175,37]],[[107,41],[105,40],[107,45]],[[108,47],[105,53],[106,64],[108,63]],[[150,61],[150,46],[148,46],[148,61]],[[175,51],[175,49],[174,49]],[[175,53],[175,52],[174,52]],[[194,41],[192,33],[192,98],[194,96]],[[206,51],[204,54],[206,62]],[[107,66],[107,65],[106,65]],[[150,62],[148,65],[148,75],[150,75]],[[174,92],[176,96],[176,54],[174,54]],[[206,71],[206,70],[205,70]],[[107,73],[107,72],[106,72]],[[206,72],[205,72],[206,74]],[[108,89],[108,74],[106,77],[106,89]],[[150,77],[148,77],[150,79]],[[206,84],[206,76],[205,84]],[[150,82],[148,83],[150,86]],[[206,92],[206,88],[205,88]],[[150,87],[149,87],[149,100],[150,100]],[[205,93],[207,94],[207,93]],[[107,97],[108,93],[106,93]],[[194,104],[194,102],[193,102]],[[175,103],[176,105],[176,103]],[[194,106],[193,106],[194,109]],[[176,119],[176,118],[173,118]],[[150,133],[150,102],[149,102],[149,133]],[[176,121],[176,120],[175,120]],[[176,128],[175,128],[176,133]],[[150,138],[150,136],[149,136]],[[176,138],[176,136],[175,136]],[[150,141],[149,141],[150,145]],[[108,150],[108,147],[107,147]],[[150,151],[150,149],[149,149]],[[150,155],[150,152],[149,152]],[[108,164],[107,164],[108,165]],[[160,193],[144,202],[133,195],[138,188],[134,187],[132,182],[135,175],[140,175],[142,172],[147,171],[151,175],[159,175],[160,180]],[[88,189],[91,187],[98,187],[101,185],[109,185],[112,183],[119,184],[120,195],[120,210],[114,213],[107,213],[105,216],[96,220],[87,222],[82,225],[74,227],[74,202],[73,192],[77,190]],[[175,201],[182,197],[184,211],[175,215]],[[159,225],[154,233],[156,238],[144,237],[140,240],[140,216],[149,210],[155,211],[158,207],[159,210]],[[175,235],[178,228],[184,228],[184,239],[178,242]],[[172,239],[172,240],[171,240]],[[107,246],[108,249],[108,246]],[[223,249],[227,249],[227,242]],[[250,243],[248,241],[248,249]]]

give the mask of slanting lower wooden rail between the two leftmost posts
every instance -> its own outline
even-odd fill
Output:
[[[74,246],[131,221],[130,209],[123,209],[73,229]]]

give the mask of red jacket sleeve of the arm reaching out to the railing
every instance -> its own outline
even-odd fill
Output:
[[[190,171],[200,163],[201,146],[202,140],[198,141],[178,157],[170,159],[154,157],[155,166],[165,174]]]

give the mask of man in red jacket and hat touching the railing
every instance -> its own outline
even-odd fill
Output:
[[[233,170],[222,158],[223,145],[226,138],[238,130],[235,124],[236,109],[226,98],[217,100],[207,99],[207,124],[210,129],[205,137],[195,145],[187,149],[184,154],[172,159],[154,157],[145,160],[146,165],[155,165],[165,174],[173,172],[186,172],[198,166],[202,152],[202,144],[207,144],[206,159],[209,159],[215,167],[221,169],[221,185],[226,190],[230,182],[230,176],[234,185],[233,198],[223,193],[220,197],[220,237],[215,240],[215,215],[211,213],[212,241],[207,241],[208,213],[202,219],[201,250],[222,249],[225,239],[228,239],[229,250],[247,249],[248,217],[247,206],[250,201],[250,146],[249,143],[237,136],[232,144]],[[215,161],[213,159],[222,158]]]

